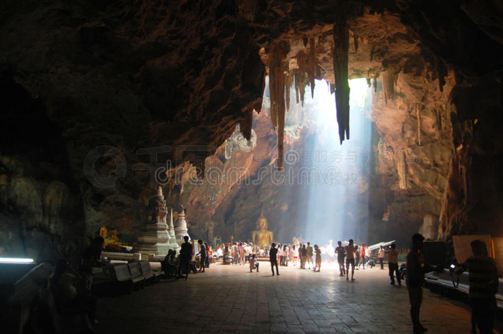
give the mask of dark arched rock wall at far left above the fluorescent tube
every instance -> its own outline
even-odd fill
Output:
[[[76,260],[86,226],[61,133],[12,74],[0,72],[0,255]]]

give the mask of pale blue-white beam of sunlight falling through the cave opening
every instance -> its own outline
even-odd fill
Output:
[[[303,185],[305,195],[300,197],[302,202],[297,210],[305,211],[298,215],[305,223],[298,222],[301,227],[298,232],[305,242],[320,246],[330,239],[335,244],[348,239],[366,242],[367,238],[372,93],[365,78],[350,80],[350,88],[351,137],[342,145],[334,94],[330,94],[326,82],[316,82],[314,100],[305,94],[304,109],[313,108],[310,115],[315,129],[298,150],[310,156],[302,168],[310,168],[310,172],[319,173],[321,178],[320,182]]]

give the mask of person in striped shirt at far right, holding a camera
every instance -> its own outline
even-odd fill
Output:
[[[472,309],[472,333],[492,334],[494,313],[496,311],[495,294],[498,291],[498,273],[494,260],[487,256],[487,247],[481,240],[471,242],[473,256],[469,257],[456,270],[459,275],[468,270],[470,274],[470,306]]]

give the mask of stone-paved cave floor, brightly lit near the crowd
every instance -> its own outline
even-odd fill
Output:
[[[412,332],[406,288],[390,285],[386,270],[359,270],[347,282],[326,264],[320,273],[280,267],[280,276],[270,276],[267,265],[249,273],[247,266],[213,264],[188,281],[101,297],[96,332]],[[428,289],[421,319],[428,333],[470,332],[468,307]]]

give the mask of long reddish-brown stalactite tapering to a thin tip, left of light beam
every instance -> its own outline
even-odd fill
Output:
[[[281,41],[271,47],[269,57],[269,94],[271,120],[278,129],[278,168],[283,169],[283,137],[285,131],[285,58],[289,44]]]

